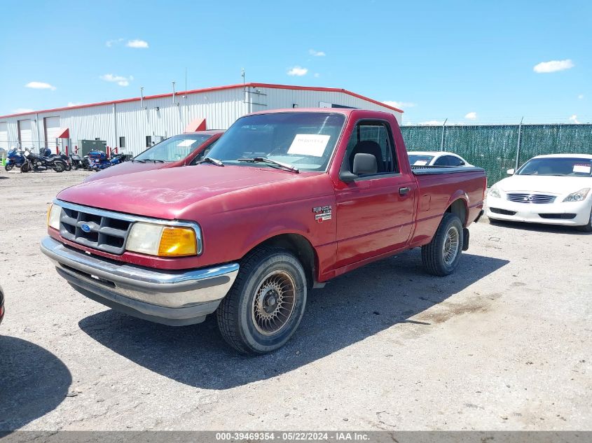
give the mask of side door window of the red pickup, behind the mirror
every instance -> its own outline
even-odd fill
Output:
[[[362,120],[357,123],[347,143],[342,169],[353,171],[354,156],[357,153],[374,155],[378,164],[378,174],[399,172],[392,134],[387,122]]]

